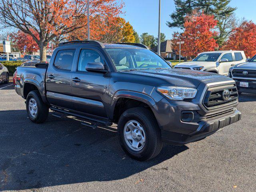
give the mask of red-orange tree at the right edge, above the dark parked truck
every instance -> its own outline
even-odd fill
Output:
[[[256,54],[256,24],[244,21],[232,30],[222,50],[242,50],[248,57]]]

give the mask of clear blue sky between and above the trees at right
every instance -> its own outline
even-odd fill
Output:
[[[138,34],[148,32],[154,36],[158,34],[158,0],[124,0],[125,14],[122,16],[129,21]],[[162,0],[162,24],[161,32],[170,39],[172,32],[177,28],[168,28],[166,21],[170,20],[170,14],[175,10],[173,0]],[[256,22],[256,0],[231,0],[230,6],[237,7],[236,16]]]

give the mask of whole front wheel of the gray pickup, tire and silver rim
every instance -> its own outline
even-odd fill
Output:
[[[146,108],[131,108],[120,116],[118,137],[123,150],[136,160],[152,159],[162,149],[160,128]]]

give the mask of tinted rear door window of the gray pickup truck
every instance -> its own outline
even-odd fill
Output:
[[[58,51],[54,60],[54,67],[60,70],[71,70],[74,59],[75,49],[60,50]]]

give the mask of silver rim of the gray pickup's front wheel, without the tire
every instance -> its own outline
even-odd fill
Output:
[[[130,149],[134,151],[142,150],[145,146],[146,134],[139,122],[130,120],[125,124],[124,140]]]

